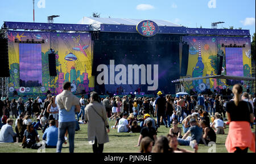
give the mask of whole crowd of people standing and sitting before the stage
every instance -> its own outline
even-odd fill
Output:
[[[255,152],[255,134],[251,132],[255,122],[255,94],[253,97],[242,92],[240,84],[234,85],[231,100],[219,95],[163,96],[161,91],[156,98],[100,99],[92,92],[88,99],[84,95],[79,99],[72,94],[71,83],[64,83],[63,89],[57,96],[48,94],[44,101],[39,97],[28,98],[27,102],[21,97],[18,101],[0,100],[0,142],[17,142],[23,148],[38,149],[42,146],[38,130],[42,130],[46,148],[61,152],[62,145],[68,141],[69,152],[74,152],[75,131],[79,130],[79,124],[86,123],[94,153],[103,152],[104,144],[109,142],[110,128],[118,133],[140,133],[135,145],[140,146],[140,152],[188,153],[191,151],[177,146],[191,146],[197,152],[199,144],[216,143],[216,134],[225,134],[229,125],[225,144],[228,152],[248,149]],[[14,119],[16,133],[12,128]],[[109,122],[114,126],[109,127]],[[170,128],[166,136],[158,136],[160,126]],[[237,134],[242,144],[234,141],[233,135]]]

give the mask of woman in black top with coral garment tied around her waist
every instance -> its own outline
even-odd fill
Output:
[[[226,149],[229,153],[247,153],[248,148],[255,153],[255,134],[251,132],[250,123],[254,122],[253,107],[242,101],[241,84],[233,86],[234,100],[226,105],[229,121],[229,133],[226,138]]]

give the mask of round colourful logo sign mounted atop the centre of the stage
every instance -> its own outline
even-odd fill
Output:
[[[143,20],[136,26],[137,32],[142,36],[151,37],[158,33],[158,25],[151,20]]]

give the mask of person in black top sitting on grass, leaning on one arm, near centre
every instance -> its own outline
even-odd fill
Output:
[[[157,133],[155,128],[152,127],[151,120],[148,120],[148,122],[146,123],[146,127],[143,127],[141,129],[141,135],[139,135],[138,144],[136,146],[139,146],[141,144],[141,140],[144,137],[150,137],[153,141],[156,141],[157,140],[156,135]]]

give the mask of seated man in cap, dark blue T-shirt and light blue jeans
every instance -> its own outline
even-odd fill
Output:
[[[180,145],[189,146],[191,141],[196,140],[196,143],[199,144],[202,137],[202,128],[198,127],[196,124],[196,119],[189,120],[190,128],[187,133],[184,134],[182,139],[177,139]],[[191,133],[191,137],[188,136]]]

